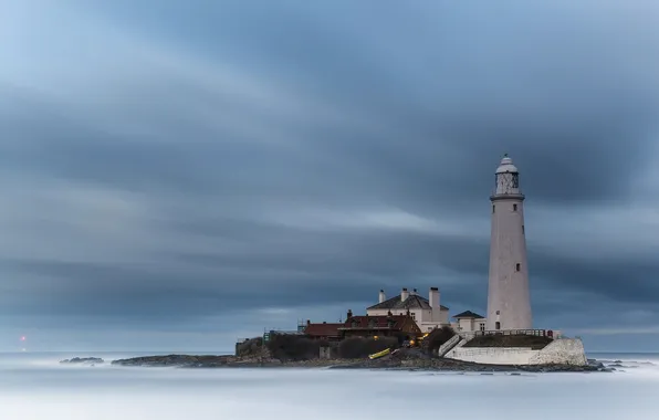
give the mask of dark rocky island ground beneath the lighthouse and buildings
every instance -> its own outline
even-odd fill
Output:
[[[437,347],[454,334],[438,330],[428,337],[426,346],[399,347],[396,339],[379,340],[351,338],[339,345],[322,344],[301,336],[273,336],[268,343],[261,337],[237,345],[236,355],[167,355],[146,356],[112,361],[115,366],[179,367],[179,368],[330,368],[330,369],[390,369],[444,370],[473,372],[544,372],[544,371],[611,371],[603,364],[590,360],[587,365],[487,365],[439,357]],[[326,350],[323,351],[322,348]],[[369,354],[396,348],[381,358]]]

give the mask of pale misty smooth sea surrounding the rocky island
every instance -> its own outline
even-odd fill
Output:
[[[659,354],[590,354],[616,370],[588,374],[109,364],[143,355],[0,354],[0,420],[659,419]]]

